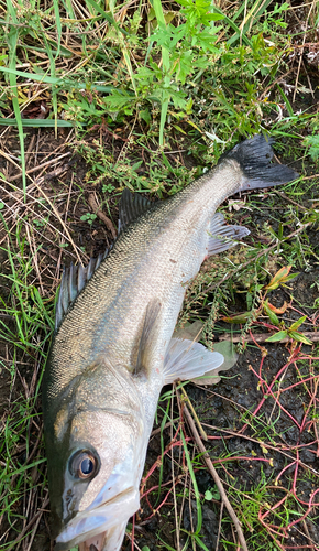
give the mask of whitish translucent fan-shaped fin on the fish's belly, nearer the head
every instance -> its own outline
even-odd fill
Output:
[[[195,379],[207,371],[217,372],[223,361],[222,354],[210,352],[200,343],[172,338],[164,360],[165,385],[176,379]]]

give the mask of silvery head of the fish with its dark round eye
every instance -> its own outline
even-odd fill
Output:
[[[117,551],[140,506],[143,404],[128,376],[118,371],[110,381],[103,374],[101,381],[95,370],[95,378],[94,387],[90,374],[74,385],[46,430],[56,551],[79,543],[81,551]]]

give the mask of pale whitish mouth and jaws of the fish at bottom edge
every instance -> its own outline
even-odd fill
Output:
[[[117,551],[120,549],[129,518],[140,507],[140,491],[127,488],[95,509],[78,512],[55,540],[54,551]]]

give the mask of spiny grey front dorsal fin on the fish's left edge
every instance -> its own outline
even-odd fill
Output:
[[[91,279],[101,261],[108,256],[108,252],[109,249],[97,258],[91,258],[85,268],[81,264],[74,266],[73,262],[69,268],[64,267],[55,309],[55,331],[61,325],[69,306],[75,302],[78,294]]]

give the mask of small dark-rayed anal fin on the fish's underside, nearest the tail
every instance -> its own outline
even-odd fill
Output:
[[[221,213],[216,213],[209,228],[208,255],[218,255],[230,249],[248,236],[250,230],[244,226],[227,226]]]

